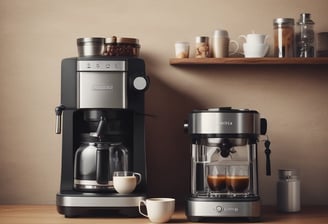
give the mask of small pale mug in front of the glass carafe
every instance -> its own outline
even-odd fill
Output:
[[[113,186],[120,194],[131,193],[140,182],[140,173],[131,171],[115,171],[113,173]]]

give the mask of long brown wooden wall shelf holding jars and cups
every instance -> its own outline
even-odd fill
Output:
[[[328,65],[323,58],[171,58],[171,65]]]

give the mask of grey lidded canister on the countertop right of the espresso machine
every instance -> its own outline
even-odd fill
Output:
[[[297,170],[281,169],[278,171],[277,207],[281,212],[301,210],[301,183]]]

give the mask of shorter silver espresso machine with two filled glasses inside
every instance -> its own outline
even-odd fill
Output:
[[[194,110],[185,129],[191,137],[191,195],[186,216],[260,219],[258,186],[259,136],[266,119],[257,111],[231,107]],[[270,142],[266,140],[267,175]]]

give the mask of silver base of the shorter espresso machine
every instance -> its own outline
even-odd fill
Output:
[[[186,216],[192,222],[217,218],[243,218],[258,222],[261,218],[261,203],[259,197],[238,200],[191,197],[187,200]]]

